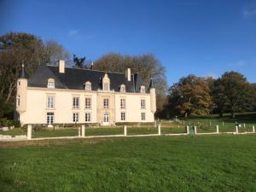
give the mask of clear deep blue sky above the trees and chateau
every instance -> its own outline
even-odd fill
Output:
[[[194,73],[256,82],[256,0],[0,0],[0,34],[30,32],[72,54],[152,53],[168,84]]]

